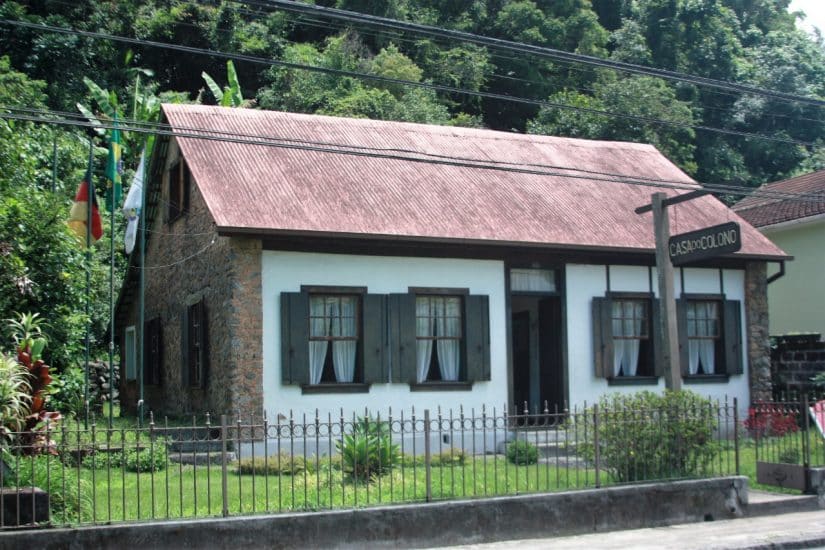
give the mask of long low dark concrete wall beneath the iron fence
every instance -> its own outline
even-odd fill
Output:
[[[406,548],[607,532],[742,515],[747,478],[292,513],[0,533],[0,548]]]

